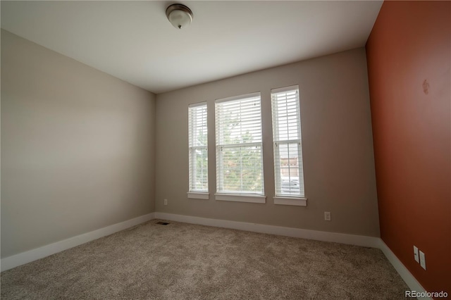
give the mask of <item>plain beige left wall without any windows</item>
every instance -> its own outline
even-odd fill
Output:
[[[1,257],[154,211],[154,94],[1,30]]]

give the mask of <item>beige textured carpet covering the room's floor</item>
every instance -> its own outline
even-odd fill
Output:
[[[1,273],[1,299],[405,299],[378,249],[149,221]]]

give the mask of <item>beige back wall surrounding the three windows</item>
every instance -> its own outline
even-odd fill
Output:
[[[274,205],[272,198],[270,92],[288,85],[299,85],[307,207]],[[266,204],[215,201],[214,100],[258,91]],[[200,101],[207,101],[209,110],[209,200],[186,194],[187,106]],[[378,237],[364,48],[157,95],[156,211]],[[331,222],[323,220],[324,211],[332,213]]]

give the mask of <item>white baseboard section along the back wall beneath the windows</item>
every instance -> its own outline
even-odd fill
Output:
[[[286,237],[300,237],[303,239],[316,239],[323,242],[336,242],[341,244],[352,244],[378,248],[378,237],[366,237],[363,235],[347,235],[337,232],[325,232],[318,230],[306,230],[292,227],[280,227],[273,225],[261,225],[255,223],[245,223],[229,220],[216,220],[209,218],[192,217],[190,215],[175,215],[172,213],[155,213],[155,218],[172,220],[176,222],[207,225],[214,227],[231,228],[252,232],[267,233],[270,235],[285,235]]]

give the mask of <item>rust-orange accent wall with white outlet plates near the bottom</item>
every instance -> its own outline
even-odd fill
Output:
[[[366,56],[381,238],[428,292],[450,295],[451,2],[385,1]]]

